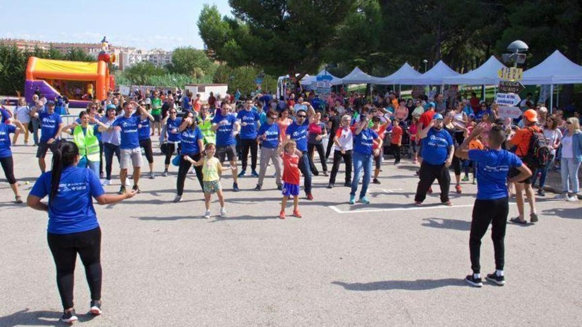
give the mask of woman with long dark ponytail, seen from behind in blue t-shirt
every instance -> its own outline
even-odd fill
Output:
[[[77,321],[73,308],[73,277],[77,253],[85,266],[91,291],[90,312],[101,314],[101,229],[93,208],[131,198],[132,190],[120,195],[105,194],[99,175],[77,167],[79,148],[70,141],[55,147],[52,170],[37,179],[27,199],[29,207],[48,212],[47,239],[56,265],[56,284],[61,295],[61,321]],[[48,196],[48,203],[41,202]]]

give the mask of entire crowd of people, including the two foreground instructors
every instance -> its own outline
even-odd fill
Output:
[[[247,97],[237,92],[223,97],[211,94],[205,101],[200,95],[164,94],[158,90],[139,91],[127,97],[111,94],[105,101],[90,102],[70,125],[65,125],[55,112],[55,102],[42,95],[36,95],[31,104],[20,100],[13,113],[2,110],[0,162],[19,202],[22,199],[10,145],[22,133],[26,144],[26,124],[31,122],[27,117],[40,120],[41,135],[35,143],[42,175],[27,203],[31,208],[48,211],[48,240],[65,308],[63,321],[76,319],[72,303],[76,253],[87,271],[91,312],[101,313],[101,232],[91,197],[99,204],[108,204],[140,193],[143,156],[150,179],[169,176],[173,174],[172,167],[178,167],[173,202],[182,201],[187,174],[196,174],[204,193],[204,218],[211,216],[214,193],[220,204],[219,215],[227,215],[221,182],[222,173],[228,168],[233,179],[231,190],[238,192],[238,179],[247,176],[247,170],[249,176],[257,178],[254,190],[261,191],[267,167],[274,166],[275,186],[282,192],[278,215],[281,219],[286,218],[290,198],[293,216],[301,218],[300,189],[308,201],[314,199],[312,176],[327,176],[328,189],[335,187],[342,162],[350,204],[370,203],[368,186],[381,183],[381,164],[390,156],[394,165],[400,164],[401,154],[408,155],[413,165],[420,163],[414,198],[418,206],[423,205],[427,193],[432,193],[435,180],[442,204],[452,205],[450,166],[456,193],[463,192],[461,182],[469,182],[472,170],[473,183],[477,184],[470,233],[473,273],[466,281],[473,286],[482,285],[480,245],[490,223],[496,270],[487,279],[497,285],[505,283],[503,238],[510,192],[516,197],[519,211],[511,221],[528,223],[524,218],[527,201],[530,222],[537,222],[535,197],[545,196],[547,173],[559,164],[563,190],[560,196],[567,201],[577,200],[582,133],[574,113],[569,118],[559,110],[549,115],[544,106],[526,102],[522,116],[510,119],[500,117],[496,104],[479,101],[475,94],[466,99],[445,99],[443,94],[437,94],[431,100],[425,95],[404,99],[393,92],[364,97],[342,91],[325,97],[313,91],[297,91],[279,98],[269,92]],[[62,133],[69,133],[71,141],[61,139]],[[9,134],[15,134],[12,140]],[[165,156],[163,170],[154,167],[155,136]],[[53,162],[52,169],[46,172],[44,158],[48,150]],[[330,155],[332,168],[328,170]],[[117,195],[109,195],[104,186],[111,184],[114,156],[120,166],[121,186]],[[223,166],[225,159],[228,167]],[[131,190],[126,189],[127,179],[133,182]],[[538,180],[538,191],[534,193]],[[48,204],[41,202],[46,196]],[[68,204],[67,212],[59,207],[64,203]]]

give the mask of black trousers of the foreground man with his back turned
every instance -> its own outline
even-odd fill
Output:
[[[471,269],[480,273],[481,239],[491,223],[491,239],[495,253],[495,269],[503,270],[505,264],[505,228],[509,214],[509,199],[507,197],[495,200],[475,200],[471,234],[469,236],[469,251],[471,254]]]

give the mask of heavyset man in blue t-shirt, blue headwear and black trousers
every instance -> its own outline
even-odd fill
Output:
[[[427,197],[428,189],[434,180],[441,187],[441,202],[452,205],[449,200],[450,175],[449,166],[453,161],[453,138],[443,129],[443,116],[435,113],[426,127],[418,132],[421,140],[423,162],[418,176],[420,181],[414,196],[414,204],[420,206]]]

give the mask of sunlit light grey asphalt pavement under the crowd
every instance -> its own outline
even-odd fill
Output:
[[[13,148],[24,198],[39,175],[35,151]],[[87,314],[90,298],[78,260],[77,324],[580,326],[580,202],[555,201],[547,193],[538,202],[539,222],[509,224],[506,286],[484,283],[476,289],[463,281],[470,273],[476,187],[463,183],[463,194],[450,194],[453,207],[445,207],[435,184],[425,205],[414,207],[416,168],[403,162],[396,167],[384,161],[382,184],[370,185],[369,205],[347,203],[343,169],[332,190],[325,188],[328,177],[314,176],[314,200],[301,198],[301,219],[276,218],[281,194],[272,167],[261,191],[252,190],[256,179],[247,176],[233,193],[226,173],[228,216],[218,217],[215,199],[214,216],[203,219],[196,177],[189,175],[183,201],[173,203],[177,168],[160,176],[163,157],[157,155],[155,179],[144,174],[140,180],[143,193],[115,205],[95,204],[102,228],[104,313]],[[109,193],[119,189],[118,169],[115,162],[115,179],[105,187]],[[61,325],[47,214],[12,199],[2,180],[0,326]],[[510,216],[516,214],[512,201]],[[495,268],[490,232],[483,239],[481,266],[482,274]]]

